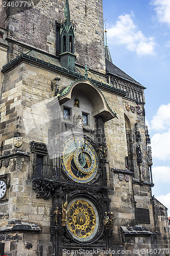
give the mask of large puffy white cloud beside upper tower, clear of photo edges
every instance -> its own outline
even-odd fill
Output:
[[[116,24],[108,29],[109,44],[125,45],[137,55],[153,55],[156,45],[153,37],[146,37],[134,24],[132,14],[118,17]]]

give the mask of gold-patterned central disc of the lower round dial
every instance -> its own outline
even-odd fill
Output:
[[[77,200],[67,212],[67,225],[71,233],[78,238],[88,238],[96,225],[95,211],[90,203]]]

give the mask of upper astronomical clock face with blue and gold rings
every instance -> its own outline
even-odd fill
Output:
[[[61,164],[65,174],[79,183],[90,182],[98,172],[98,156],[93,146],[78,136],[64,142]]]

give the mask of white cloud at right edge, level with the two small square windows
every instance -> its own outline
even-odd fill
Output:
[[[157,131],[170,128],[170,103],[160,105],[156,115],[151,120],[151,128]]]

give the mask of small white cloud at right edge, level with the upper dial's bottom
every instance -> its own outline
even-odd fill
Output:
[[[156,166],[152,168],[154,182],[170,183],[170,167]]]

